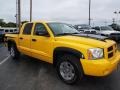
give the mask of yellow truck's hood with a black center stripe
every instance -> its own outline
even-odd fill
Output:
[[[107,45],[107,42],[110,40],[106,40],[106,37],[92,34],[76,34],[76,35],[68,35],[68,36],[60,36],[55,37],[56,41],[61,42],[69,42],[75,44],[85,44],[94,47],[104,47]],[[112,42],[112,41],[111,41]]]

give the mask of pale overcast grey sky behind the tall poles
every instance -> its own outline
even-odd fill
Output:
[[[91,24],[109,24],[119,20],[120,0],[91,0]],[[22,21],[29,20],[30,0],[21,0]],[[49,20],[88,24],[89,0],[33,0],[33,21]],[[0,18],[15,22],[16,0],[0,0]]]

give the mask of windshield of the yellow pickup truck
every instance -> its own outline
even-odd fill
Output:
[[[57,35],[70,35],[79,33],[72,25],[65,23],[48,23],[55,36]]]

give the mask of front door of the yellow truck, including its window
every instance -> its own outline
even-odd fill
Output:
[[[48,36],[37,35],[37,31],[47,32]],[[52,47],[52,38],[46,26],[43,23],[36,23],[31,38],[32,56],[51,63],[53,51]]]

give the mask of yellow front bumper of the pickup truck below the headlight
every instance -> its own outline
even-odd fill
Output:
[[[85,75],[91,76],[106,76],[115,70],[120,62],[120,53],[117,52],[116,55],[110,59],[100,59],[100,60],[80,60],[83,71]]]

